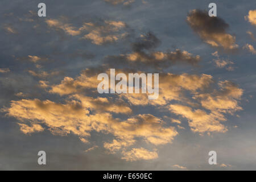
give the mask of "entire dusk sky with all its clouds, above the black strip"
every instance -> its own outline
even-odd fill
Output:
[[[256,169],[255,1],[40,2],[0,2],[1,170]],[[98,93],[111,68],[159,97]]]

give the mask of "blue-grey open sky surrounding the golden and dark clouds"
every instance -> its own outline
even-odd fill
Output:
[[[239,105],[243,108],[233,115],[226,115],[225,133],[199,135],[191,131],[186,119],[176,129],[178,135],[172,143],[156,146],[158,158],[152,160],[126,161],[121,153],[109,154],[104,142],[113,139],[111,134],[92,131],[90,142],[83,143],[75,134],[65,136],[53,135],[44,130],[39,133],[24,134],[14,117],[0,113],[0,169],[64,169],[64,170],[207,170],[207,169],[256,169],[256,60],[255,55],[243,46],[255,40],[246,33],[256,35],[256,26],[245,20],[250,10],[256,9],[253,0],[214,1],[217,4],[217,17],[229,24],[227,32],[236,36],[239,48],[236,52],[225,52],[211,47],[189,26],[187,16],[193,9],[209,10],[212,1],[168,1],[168,0],[135,0],[130,5],[119,3],[112,5],[104,0],[48,1],[46,18],[37,15],[38,3],[42,1],[7,1],[0,2],[0,68],[9,68],[10,72],[0,72],[0,107],[9,108],[11,101],[24,99],[50,100],[64,103],[65,98],[46,92],[40,88],[39,81],[47,80],[49,84],[60,84],[64,77],[76,78],[86,68],[100,68],[106,56],[121,55],[131,52],[131,43],[141,34],[152,32],[160,44],[156,51],[174,51],[181,49],[199,55],[201,61],[196,67],[175,64],[164,69],[174,74],[207,74],[214,81],[229,80],[243,89]],[[31,13],[32,12],[32,13]],[[65,34],[47,26],[47,19],[65,19],[73,27],[81,27],[85,22],[104,22],[105,20],[126,23],[127,38],[114,43],[93,44],[79,36]],[[27,19],[32,19],[29,21]],[[34,27],[36,26],[36,27]],[[14,33],[6,27],[12,27]],[[233,71],[218,68],[212,53],[218,51],[221,59],[232,61]],[[45,58],[40,62],[42,68],[28,60],[28,55]],[[117,63],[118,67],[118,63]],[[124,68],[125,69],[125,68]],[[134,68],[135,69],[135,68]],[[147,69],[147,68],[145,68]],[[57,72],[40,78],[28,71]],[[148,72],[152,68],[148,68]],[[22,96],[17,93],[22,92]],[[154,114],[163,117],[164,111],[152,106],[133,106],[133,114]],[[239,117],[237,116],[239,115]],[[169,113],[168,117],[175,117]],[[174,123],[171,123],[175,126]],[[92,151],[88,148],[98,146]],[[138,142],[137,147],[147,147]],[[39,166],[38,151],[46,151],[47,165]],[[208,164],[208,152],[217,152],[217,165]],[[151,148],[152,151],[152,148]],[[221,164],[225,164],[221,166]],[[178,168],[175,165],[179,165]]]

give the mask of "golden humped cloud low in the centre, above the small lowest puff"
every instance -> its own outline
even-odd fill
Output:
[[[113,134],[119,140],[113,140],[112,143],[104,143],[104,147],[111,152],[115,152],[123,147],[131,146],[136,142],[135,138],[142,138],[148,143],[162,145],[172,143],[174,137],[178,134],[174,127],[164,127],[160,118],[151,114],[139,114],[126,121],[113,125],[115,130]]]

